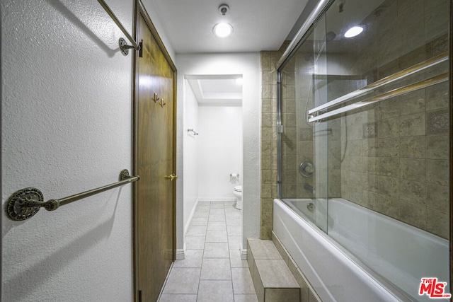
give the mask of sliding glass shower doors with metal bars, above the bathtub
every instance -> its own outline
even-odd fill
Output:
[[[280,66],[280,197],[325,233],[341,199],[448,245],[449,6],[333,1]]]

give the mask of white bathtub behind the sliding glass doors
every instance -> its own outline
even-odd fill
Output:
[[[284,200],[274,232],[324,302],[432,301],[421,278],[449,281],[447,240],[345,199],[329,199],[328,215],[325,199]]]

